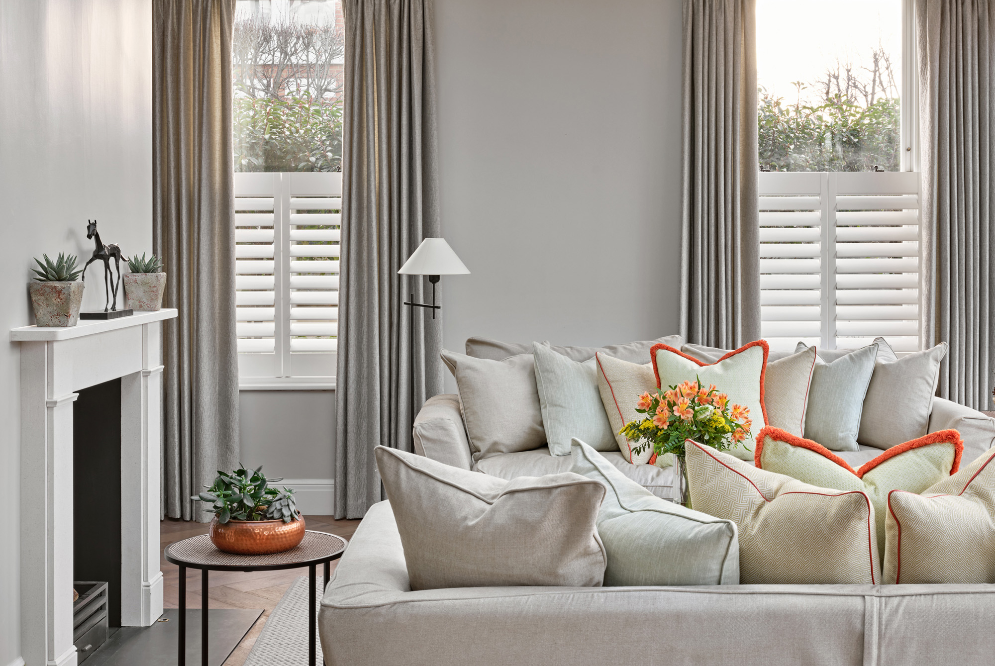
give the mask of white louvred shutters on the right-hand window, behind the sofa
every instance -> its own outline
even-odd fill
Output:
[[[918,174],[760,173],[761,331],[772,349],[882,336],[919,348]]]

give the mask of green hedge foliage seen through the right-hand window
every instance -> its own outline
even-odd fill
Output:
[[[897,171],[899,104],[834,97],[815,106],[759,96],[759,159],[771,171]]]

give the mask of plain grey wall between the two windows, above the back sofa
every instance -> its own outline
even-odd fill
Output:
[[[681,0],[435,8],[447,348],[677,332]]]

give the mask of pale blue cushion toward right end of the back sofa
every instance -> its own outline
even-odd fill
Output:
[[[834,451],[860,450],[857,433],[877,353],[877,345],[868,345],[830,363],[816,360],[805,413],[806,439]]]

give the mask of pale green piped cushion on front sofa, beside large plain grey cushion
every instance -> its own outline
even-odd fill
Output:
[[[660,499],[578,439],[570,453],[572,471],[607,491],[597,518],[605,585],[739,583],[735,523]]]

